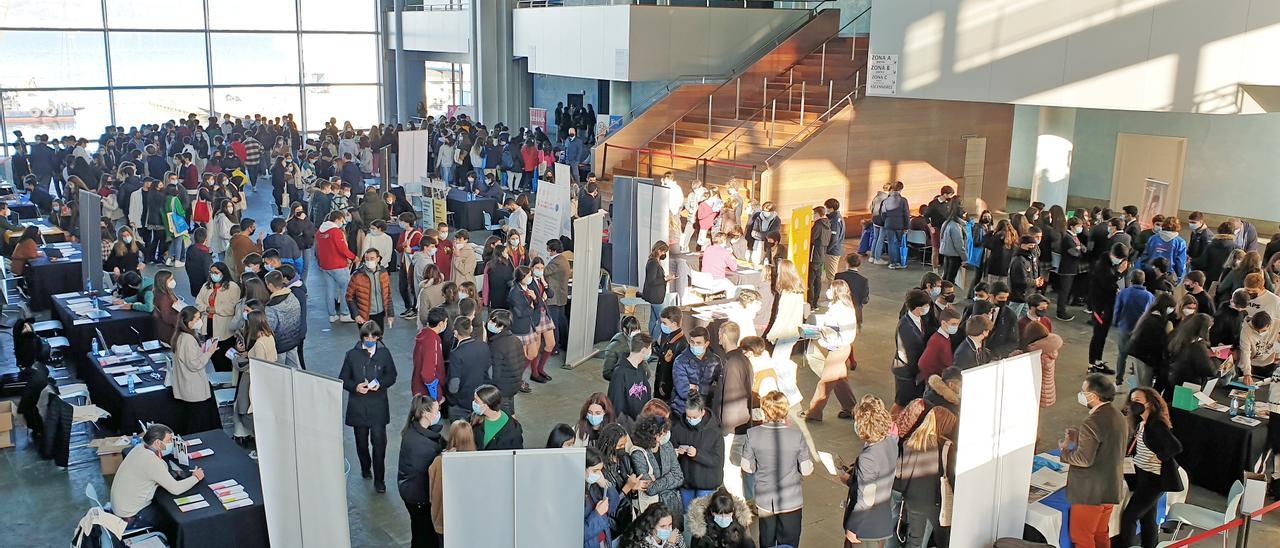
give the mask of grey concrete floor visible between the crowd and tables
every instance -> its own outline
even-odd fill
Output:
[[[259,219],[265,227],[271,218],[270,192],[259,189],[250,198],[250,216]],[[155,268],[148,268],[152,274]],[[924,268],[918,264],[906,271],[890,271],[882,266],[863,269],[870,279],[872,300],[865,309],[865,325],[859,333],[855,350],[859,369],[850,375],[850,384],[858,396],[873,393],[882,398],[892,397],[892,379],[888,362],[893,352],[893,326],[905,291],[919,282]],[[178,278],[184,278],[177,269]],[[179,291],[187,288],[186,280],[178,282]],[[320,310],[319,291],[312,286],[307,335],[308,369],[323,374],[337,375],[342,366],[340,356],[357,339],[353,324],[329,325]],[[398,298],[398,297],[397,297]],[[1062,348],[1057,362],[1057,405],[1041,412],[1039,449],[1056,447],[1059,433],[1070,424],[1083,420],[1084,410],[1075,405],[1075,393],[1085,370],[1085,342],[1088,328],[1078,314],[1075,321],[1055,323],[1055,332],[1061,334],[1068,344]],[[385,341],[394,348],[401,378],[408,378],[410,355],[415,332],[412,323],[397,323]],[[1108,359],[1114,357],[1114,347],[1107,348]],[[1114,360],[1111,360],[1114,362]],[[581,402],[591,392],[603,392],[605,383],[600,379],[599,361],[593,360],[575,370],[563,370],[556,359],[549,367],[556,378],[549,384],[535,384],[531,394],[520,396],[520,420],[525,428],[526,447],[543,447],[545,437],[557,423],[572,423]],[[804,371],[806,367],[801,367]],[[812,373],[800,374],[801,389],[812,394],[815,384]],[[388,474],[394,474],[396,456],[399,451],[394,431],[408,412],[410,388],[401,382],[392,391],[392,417],[389,428]],[[846,462],[858,455],[860,443],[852,433],[852,423],[827,414],[826,423],[809,425],[819,449],[838,453]],[[347,460],[356,462],[351,430],[347,429]],[[73,455],[72,461],[87,455]],[[92,483],[104,497],[108,487],[99,474],[97,461],[88,456],[90,462],[59,470],[47,461],[41,461],[28,447],[24,434],[18,435],[17,448],[0,449],[0,530],[5,547],[46,547],[61,544],[69,539],[76,522],[88,507],[84,499],[84,484]],[[806,547],[838,547],[842,538],[841,503],[846,488],[823,471],[817,471],[805,480],[805,513],[803,542]],[[352,545],[357,547],[406,547],[410,543],[408,516],[394,489],[387,494],[376,494],[371,481],[362,480],[358,474],[348,476],[348,507],[351,519]],[[1210,508],[1221,508],[1224,497],[1192,488],[1189,502]],[[1234,540],[1234,539],[1233,539]],[[1212,545],[1212,543],[1199,543]],[[1268,516],[1261,525],[1253,528],[1251,545],[1280,545],[1280,517]]]

